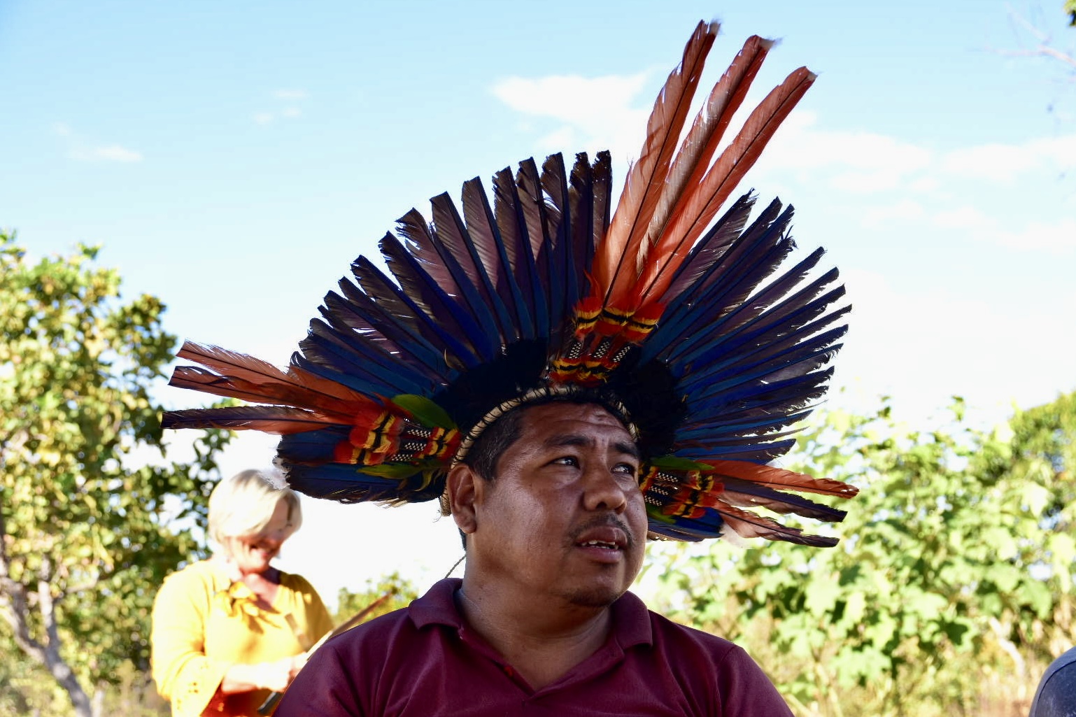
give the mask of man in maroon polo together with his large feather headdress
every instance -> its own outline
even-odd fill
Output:
[[[610,220],[608,153],[431,200],[325,298],[286,370],[187,342],[172,384],[263,405],[167,427],[283,435],[289,486],[342,502],[439,498],[462,580],[327,642],[277,713],[790,715],[747,653],[627,588],[648,538],[728,532],[836,544],[760,515],[836,522],[788,491],[855,489],[768,463],[826,388],[848,307],[836,270],[794,266],[791,208],[719,217],[813,81],[792,72],[719,153],[771,43],[750,38],[686,132],[717,26],[700,23]],[[681,133],[683,139],[681,140]],[[779,270],[780,269],[780,270]]]

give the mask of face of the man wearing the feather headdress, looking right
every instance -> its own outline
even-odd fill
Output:
[[[476,501],[468,560],[484,581],[520,590],[521,598],[608,605],[642,564],[638,450],[623,424],[596,405],[546,404],[524,409],[522,419],[496,480]]]

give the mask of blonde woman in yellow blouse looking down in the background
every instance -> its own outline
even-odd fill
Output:
[[[299,496],[260,470],[209,498],[214,556],[165,579],[153,608],[153,678],[175,717],[255,717],[332,628],[317,592],[270,563],[299,529]]]

